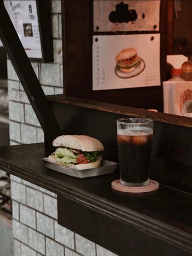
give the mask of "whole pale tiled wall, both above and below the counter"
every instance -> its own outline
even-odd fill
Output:
[[[46,95],[63,94],[60,1],[52,1],[52,21],[54,63],[32,63]],[[42,129],[9,60],[8,79],[10,144],[42,142]],[[15,256],[116,256],[58,225],[56,194],[18,177],[11,179]]]

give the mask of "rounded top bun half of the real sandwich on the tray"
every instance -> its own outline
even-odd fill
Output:
[[[99,140],[87,135],[61,135],[53,140],[53,146],[63,146],[82,151],[104,150],[104,146]]]

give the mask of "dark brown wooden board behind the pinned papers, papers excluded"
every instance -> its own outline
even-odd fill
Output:
[[[94,1],[82,0],[77,1],[73,6],[70,0],[62,1],[65,94],[129,107],[157,108],[162,112],[162,86],[93,91],[93,3]],[[160,3],[160,24],[159,31],[154,31],[154,33],[156,32],[160,32],[162,83],[163,80],[166,80],[167,1]],[[131,31],[131,34],[134,33],[142,34],[143,31]],[[145,31],[145,34],[150,33],[151,31]]]

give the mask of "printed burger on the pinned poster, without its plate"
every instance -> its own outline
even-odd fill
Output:
[[[116,66],[120,68],[121,72],[129,73],[141,64],[141,59],[137,55],[135,48],[123,49],[116,56]]]

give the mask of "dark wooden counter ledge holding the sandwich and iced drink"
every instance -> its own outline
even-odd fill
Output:
[[[48,154],[42,143],[1,147],[0,168],[57,193],[61,225],[122,256],[192,255],[191,194],[163,185],[151,193],[115,192],[118,172],[69,177],[44,166]]]

